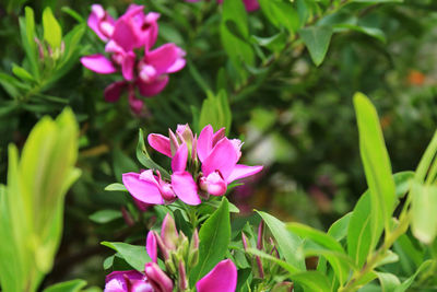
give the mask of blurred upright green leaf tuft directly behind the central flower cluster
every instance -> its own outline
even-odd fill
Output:
[[[226,91],[221,90],[216,96],[211,92],[208,98],[203,101],[200,112],[199,127],[211,125],[215,130],[225,127],[226,133],[231,130],[232,112],[227,101]]]

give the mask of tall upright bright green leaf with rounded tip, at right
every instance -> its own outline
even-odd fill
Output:
[[[371,201],[371,225],[382,223],[389,233],[394,210],[395,192],[390,159],[387,153],[378,115],[370,101],[362,93],[354,96],[359,131],[359,152]],[[377,229],[374,229],[376,232]],[[374,234],[374,237],[377,234]]]

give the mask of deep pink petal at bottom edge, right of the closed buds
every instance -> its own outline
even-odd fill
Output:
[[[196,288],[198,292],[235,292],[237,268],[231,259],[222,260],[196,283]]]

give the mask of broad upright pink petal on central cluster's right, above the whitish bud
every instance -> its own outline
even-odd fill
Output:
[[[233,143],[227,138],[223,138],[203,161],[203,175],[208,176],[209,174],[218,171],[227,182],[227,177],[231,175],[237,161],[238,155],[235,152]]]

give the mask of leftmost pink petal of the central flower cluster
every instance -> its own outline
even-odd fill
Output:
[[[123,174],[122,183],[135,199],[147,203],[164,203],[157,186],[151,182],[140,179],[140,174]]]

